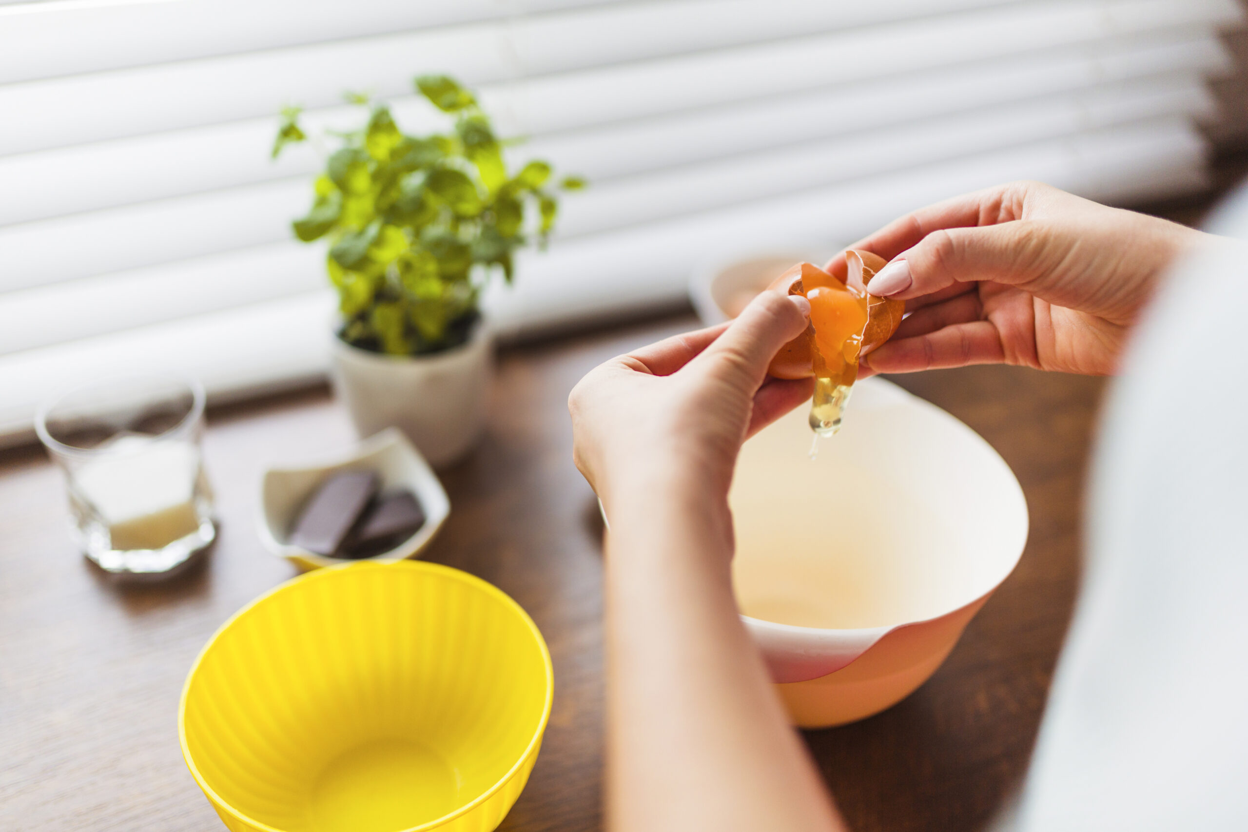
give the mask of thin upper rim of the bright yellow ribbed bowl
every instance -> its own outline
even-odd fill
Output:
[[[273,597],[280,593],[290,590],[292,586],[297,584],[305,581],[314,581],[314,580],[333,580],[334,575],[338,575],[351,569],[356,570],[407,569],[414,571],[423,571],[423,573],[441,575],[443,578],[448,578],[452,580],[458,580],[463,584],[467,584],[469,586],[484,591],[487,595],[494,596],[497,600],[500,600],[504,605],[510,606],[515,612],[519,614],[520,620],[528,627],[529,634],[534,637],[534,640],[537,640],[538,647],[540,649],[542,654],[542,664],[545,670],[545,701],[542,706],[542,717],[538,720],[537,728],[534,730],[533,736],[529,738],[529,743],[524,747],[524,752],[519,755],[519,757],[512,765],[512,767],[508,768],[507,772],[502,777],[499,777],[498,781],[494,782],[494,785],[492,785],[489,788],[487,788],[480,795],[474,797],[472,801],[464,803],[463,806],[458,806],[451,812],[441,817],[433,818],[432,821],[426,821],[424,823],[421,823],[418,826],[411,826],[403,830],[397,830],[396,832],[422,832],[424,830],[436,830],[439,826],[449,821],[453,821],[462,815],[467,815],[468,812],[477,808],[478,806],[488,801],[490,797],[497,795],[508,782],[512,781],[512,778],[514,778],[519,773],[520,768],[525,765],[525,762],[530,757],[538,753],[542,745],[542,737],[545,733],[548,722],[550,721],[550,707],[554,701],[554,665],[550,661],[550,649],[547,645],[545,639],[542,636],[542,631],[538,629],[538,625],[533,621],[533,617],[529,616],[529,614],[524,610],[524,607],[520,606],[519,602],[510,595],[508,595],[499,588],[494,586],[489,581],[484,580],[483,578],[478,578],[470,573],[466,573],[462,569],[456,569],[454,566],[446,566],[443,564],[432,564],[424,560],[398,560],[394,563],[354,561],[348,564],[327,566],[324,569],[317,569],[310,573],[303,573],[302,575],[296,575],[295,578],[282,581],[277,586],[272,588],[271,590],[258,595],[257,597],[245,604],[241,609],[238,609],[228,619],[226,619],[220,627],[216,629],[216,631],[207,640],[203,647],[200,649],[198,655],[196,655],[195,661],[191,664],[191,669],[186,674],[186,680],[182,682],[182,694],[178,697],[178,704],[177,704],[177,740],[178,745],[182,748],[182,761],[186,763],[186,767],[191,770],[191,776],[195,778],[195,782],[208,797],[208,801],[212,803],[213,808],[228,812],[231,817],[233,817],[235,820],[242,823],[250,823],[252,827],[261,830],[262,832],[286,832],[286,831],[278,830],[277,827],[273,826],[268,826],[267,823],[262,823],[261,821],[257,821],[236,810],[225,798],[222,798],[211,786],[208,786],[208,783],[203,780],[203,775],[200,773],[200,770],[195,765],[195,760],[191,756],[191,750],[187,747],[186,742],[186,700],[191,691],[191,681],[195,679],[196,672],[198,672],[200,665],[203,662],[203,657],[208,654],[208,650],[211,650],[212,645],[217,642],[217,639],[220,639],[227,629],[233,626],[233,624],[238,619],[250,612],[252,609],[267,601],[270,597]]]

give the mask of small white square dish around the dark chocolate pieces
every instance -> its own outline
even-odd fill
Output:
[[[389,428],[364,439],[343,453],[313,464],[270,468],[260,485],[260,539],[275,555],[286,558],[301,569],[318,569],[351,563],[343,558],[326,558],[286,541],[300,509],[328,476],[343,470],[373,470],[381,476],[382,491],[407,488],[424,509],[424,525],[388,551],[366,558],[374,563],[393,563],[414,558],[433,541],[451,514],[451,499],[442,488],[429,463],[424,460],[403,432]]]

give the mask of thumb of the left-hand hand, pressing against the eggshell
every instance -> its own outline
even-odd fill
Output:
[[[753,395],[780,347],[806,328],[810,302],[800,294],[761,292],[690,365],[740,383]]]

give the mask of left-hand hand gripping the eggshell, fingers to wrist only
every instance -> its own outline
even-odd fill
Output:
[[[741,442],[810,398],[810,379],[766,375],[805,327],[802,297],[764,292],[731,323],[668,338],[592,370],[572,390],[577,468],[610,505],[618,491],[696,480],[723,499]]]

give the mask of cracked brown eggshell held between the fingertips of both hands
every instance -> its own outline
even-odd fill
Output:
[[[805,297],[807,291],[817,286],[830,286],[832,281],[837,281],[865,292],[871,278],[885,267],[886,261],[869,251],[850,249],[845,252],[844,259],[837,258],[836,264],[841,266],[842,263],[844,276],[839,273],[840,268],[825,272],[812,263],[797,263],[771,281],[768,289],[784,289],[789,294]],[[905,308],[906,304],[901,301],[870,296],[866,331],[862,334],[862,354],[882,344],[897,331]],[[768,367],[768,374],[773,378],[810,378],[815,374],[811,365],[814,352],[815,328],[807,326],[804,333],[780,348]]]

